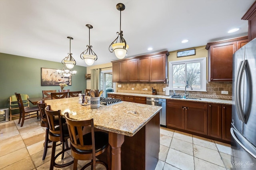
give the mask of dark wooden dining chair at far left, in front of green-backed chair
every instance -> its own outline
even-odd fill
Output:
[[[15,93],[15,96],[16,96],[16,99],[17,99],[17,102],[18,102],[18,105],[19,105],[19,109],[20,109],[20,118],[19,118],[19,122],[18,122],[18,124],[20,124],[20,121],[21,121],[20,127],[22,127],[23,124],[24,124],[25,116],[31,116],[31,115],[36,114],[37,119],[39,118],[39,115],[38,115],[39,109],[38,109],[38,107],[24,107],[21,95],[19,93]],[[32,113],[32,112],[36,112],[36,113]],[[32,114],[30,114],[30,113],[32,113]],[[28,117],[26,119],[30,119],[30,118],[33,118],[33,117]]]

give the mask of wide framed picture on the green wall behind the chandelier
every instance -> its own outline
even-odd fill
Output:
[[[41,68],[41,86],[59,86],[60,83],[72,85],[72,76],[63,77],[53,68]]]

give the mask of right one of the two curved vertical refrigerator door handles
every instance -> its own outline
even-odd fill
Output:
[[[249,66],[249,62],[248,60],[245,60],[246,61],[246,64],[245,64],[245,72],[247,73],[246,74],[246,77],[247,77],[247,84],[248,84],[248,101],[246,102],[246,107],[244,107],[244,115],[245,115],[245,123],[247,123],[248,121],[248,118],[249,118],[249,115],[250,115],[250,110],[251,110],[251,104],[252,104],[252,73],[251,73],[251,70],[250,70],[250,66]]]

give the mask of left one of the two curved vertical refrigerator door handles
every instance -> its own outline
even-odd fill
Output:
[[[242,121],[245,122],[244,114],[243,114],[243,109],[242,109],[242,103],[241,103],[241,85],[242,85],[242,76],[244,72],[244,67],[245,67],[245,61],[241,61],[239,66],[238,66],[238,73],[236,75],[236,82],[235,82],[235,104],[236,104],[236,111],[238,114],[238,118]]]

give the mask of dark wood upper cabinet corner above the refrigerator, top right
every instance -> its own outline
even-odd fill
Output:
[[[256,1],[242,17],[242,20],[248,20],[248,40],[256,38]]]

